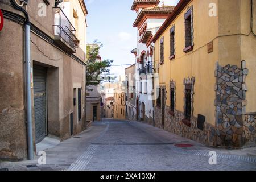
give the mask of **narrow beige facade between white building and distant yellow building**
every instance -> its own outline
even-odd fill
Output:
[[[125,113],[126,119],[136,120],[136,106],[135,106],[135,64],[125,69],[126,76],[126,92],[125,92]]]

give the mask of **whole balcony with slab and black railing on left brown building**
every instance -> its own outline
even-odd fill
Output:
[[[69,53],[75,53],[79,40],[76,38],[76,30],[60,7],[53,7],[55,11],[54,38],[56,44]]]

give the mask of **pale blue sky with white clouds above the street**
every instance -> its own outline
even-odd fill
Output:
[[[164,0],[164,5],[176,5],[179,0]],[[87,42],[99,40],[102,59],[112,65],[134,64],[131,50],[137,47],[137,28],[133,27],[137,13],[131,10],[133,0],[85,0],[89,15],[86,18]],[[162,2],[161,2],[162,5]],[[124,75],[125,66],[113,66],[110,73]]]

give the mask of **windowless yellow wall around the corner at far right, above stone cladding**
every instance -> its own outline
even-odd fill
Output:
[[[256,112],[256,38],[251,33],[250,0],[218,0],[220,65],[237,65],[246,61],[246,113]],[[256,1],[253,0],[253,31],[256,33]]]

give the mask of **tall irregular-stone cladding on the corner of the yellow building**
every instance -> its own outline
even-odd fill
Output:
[[[221,67],[216,64],[216,125],[218,143],[221,146],[241,147],[243,123],[245,122],[246,84],[248,69],[242,61],[241,69],[236,65]]]

